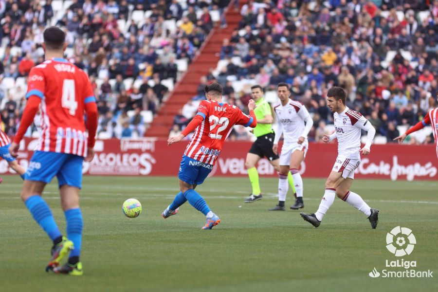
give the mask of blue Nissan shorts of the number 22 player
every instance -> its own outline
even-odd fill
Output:
[[[212,169],[213,165],[204,164],[184,155],[180,164],[178,178],[185,183],[201,184]]]

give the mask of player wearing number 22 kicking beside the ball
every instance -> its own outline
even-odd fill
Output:
[[[207,100],[201,101],[198,113],[177,137],[170,138],[167,143],[177,143],[187,134],[195,130],[189,145],[186,147],[178,174],[181,192],[164,210],[162,217],[168,218],[178,213],[178,207],[186,201],[207,217],[202,229],[212,229],[220,219],[208,207],[205,200],[195,191],[198,184],[204,182],[218,158],[222,146],[234,125],[254,128],[257,125],[254,109],[256,103],[250,100],[249,116],[236,106],[222,103],[222,86],[213,83],[205,87]]]

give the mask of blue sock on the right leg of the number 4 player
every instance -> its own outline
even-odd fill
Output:
[[[74,249],[70,252],[70,257],[79,256],[82,246],[82,220],[81,209],[70,209],[64,212],[67,221],[67,237],[73,241]]]

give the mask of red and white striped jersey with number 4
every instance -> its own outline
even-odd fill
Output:
[[[62,58],[46,60],[29,73],[26,98],[41,98],[41,135],[36,150],[86,156],[85,104],[95,102],[85,72]]]

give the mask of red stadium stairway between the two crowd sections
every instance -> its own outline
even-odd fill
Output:
[[[239,2],[241,7],[246,1]],[[201,48],[200,54],[189,64],[187,72],[175,85],[174,91],[158,111],[151,126],[146,130],[146,137],[167,138],[174,116],[183,108],[187,101],[197,94],[201,76],[208,74],[210,69],[216,69],[223,39],[231,37],[232,32],[238,27],[238,23],[241,20],[239,11],[234,10],[233,4],[229,6],[226,15],[228,27],[219,28],[218,24],[210,32],[206,43]]]

